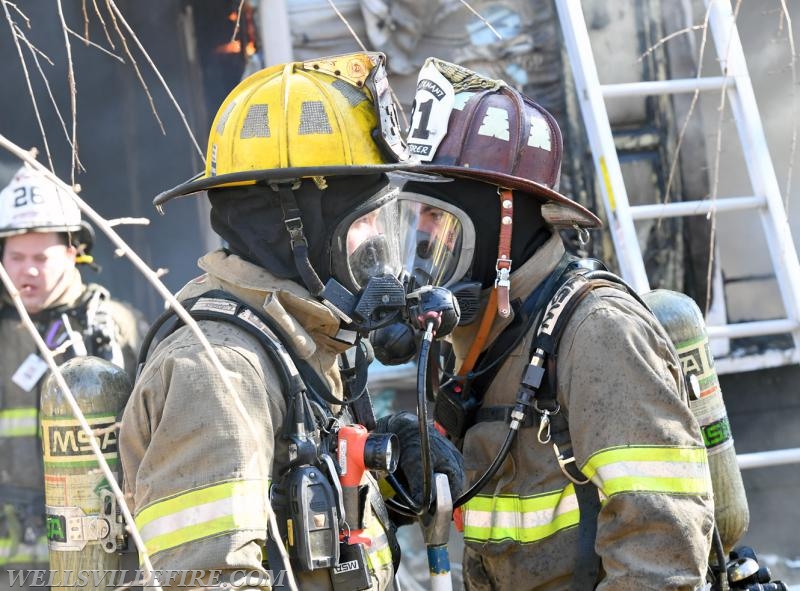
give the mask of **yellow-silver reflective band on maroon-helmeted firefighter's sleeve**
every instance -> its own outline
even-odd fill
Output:
[[[624,492],[707,494],[708,456],[701,447],[616,447],[594,454],[581,468],[606,495]]]

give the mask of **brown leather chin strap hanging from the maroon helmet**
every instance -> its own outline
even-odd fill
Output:
[[[511,314],[511,304],[509,292],[511,290],[511,236],[514,222],[514,194],[511,189],[498,187],[497,194],[500,197],[500,238],[497,243],[497,277],[494,281],[494,289],[489,294],[489,302],[483,312],[478,333],[472,341],[472,345],[464,358],[464,363],[458,370],[458,375],[464,377],[475,367],[478,357],[483,351],[486,340],[489,338],[489,331],[494,324],[495,317],[499,314],[502,318],[508,318]]]

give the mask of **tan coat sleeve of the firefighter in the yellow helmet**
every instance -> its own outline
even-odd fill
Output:
[[[187,330],[156,349],[125,409],[126,497],[156,569],[263,572],[281,382],[254,339],[217,324],[237,403]]]

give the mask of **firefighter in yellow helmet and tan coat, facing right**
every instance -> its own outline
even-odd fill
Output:
[[[394,469],[397,440],[355,426],[374,427],[362,337],[405,297],[386,176],[405,146],[389,93],[381,54],[253,74],[219,108],[204,174],[156,197],[208,192],[226,246],[178,298],[236,390],[188,327],[165,323],[143,346],[120,456],[156,569],[200,570],[212,586],[269,587],[267,571],[277,584],[286,569],[301,589],[392,585],[394,528],[369,470]],[[458,494],[460,456],[439,435],[431,447]]]

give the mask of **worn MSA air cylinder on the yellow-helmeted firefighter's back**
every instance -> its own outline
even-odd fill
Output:
[[[98,357],[76,357],[61,373],[93,430],[103,457],[119,478],[117,415],[131,392],[125,370]],[[45,504],[53,589],[120,586],[124,528],[117,500],[53,375],[41,394]],[[79,576],[88,576],[81,581]]]

